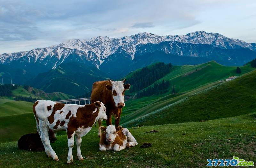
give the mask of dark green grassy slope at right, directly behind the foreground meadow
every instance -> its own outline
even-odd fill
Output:
[[[183,123],[239,116],[255,112],[255,78],[256,70],[232,81],[224,82],[216,87],[189,96],[181,102],[174,104],[171,102],[169,106],[163,106],[147,116],[134,119],[125,125]]]

